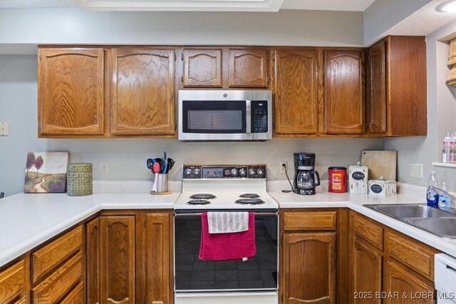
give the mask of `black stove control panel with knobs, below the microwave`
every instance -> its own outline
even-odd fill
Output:
[[[184,164],[182,175],[183,179],[265,179],[266,165],[212,166]]]

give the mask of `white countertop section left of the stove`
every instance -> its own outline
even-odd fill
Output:
[[[180,192],[88,196],[16,194],[0,200],[0,266],[102,209],[172,209]]]

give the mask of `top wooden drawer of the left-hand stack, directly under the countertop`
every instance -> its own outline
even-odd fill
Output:
[[[31,253],[32,283],[41,280],[71,254],[81,251],[83,228],[78,226],[43,248]]]

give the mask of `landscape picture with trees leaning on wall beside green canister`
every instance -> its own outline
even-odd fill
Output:
[[[25,193],[63,193],[69,152],[28,152]]]

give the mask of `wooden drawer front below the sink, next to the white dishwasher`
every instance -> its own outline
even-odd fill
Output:
[[[412,268],[414,271],[434,281],[434,248],[418,241],[388,232],[388,254],[390,257]]]

